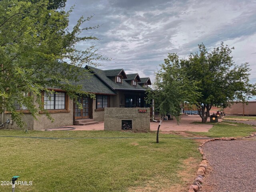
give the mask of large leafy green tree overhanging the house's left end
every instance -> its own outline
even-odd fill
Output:
[[[91,17],[79,18],[69,31],[72,10],[49,9],[48,5],[47,0],[0,1],[0,112],[10,112],[21,127],[24,123],[15,102],[28,108],[36,118],[38,110],[44,111],[40,98],[42,90],[49,92],[47,87],[66,90],[71,98],[76,98],[76,93],[86,94],[72,82],[84,74],[80,69],[83,64],[94,64],[101,58],[94,46],[76,48],[79,42],[98,40],[81,36],[85,30],[98,28],[81,27]],[[39,107],[34,105],[34,98]]]

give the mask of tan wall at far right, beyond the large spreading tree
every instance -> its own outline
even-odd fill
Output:
[[[246,105],[246,103],[237,102],[225,108],[224,112],[234,115],[256,115],[256,102],[248,102],[248,105]]]

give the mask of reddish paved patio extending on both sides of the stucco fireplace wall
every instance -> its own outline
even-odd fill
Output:
[[[210,118],[208,118],[208,121],[210,122]],[[221,122],[222,119],[219,119],[219,122]],[[180,120],[180,124],[178,125],[176,120],[165,120],[162,122],[160,126],[160,131],[192,131],[192,132],[208,132],[210,128],[212,128],[213,125],[210,124],[196,124],[192,122],[201,122],[201,118],[198,115],[188,115],[188,116],[182,116]],[[158,122],[150,122],[150,130],[156,131],[158,128],[159,123]],[[93,124],[93,125],[86,125],[86,126],[68,126],[68,127],[74,127],[76,131],[79,130],[104,130],[104,122],[100,122],[99,124]],[[51,130],[60,130],[60,129],[51,129]],[[64,129],[63,129],[64,130]]]

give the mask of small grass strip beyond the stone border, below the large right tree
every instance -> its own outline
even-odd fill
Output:
[[[208,123],[207,123],[208,124]],[[256,129],[251,125],[233,123],[233,122],[220,122],[216,123],[208,132],[192,132],[195,135],[206,137],[244,137],[256,132]]]

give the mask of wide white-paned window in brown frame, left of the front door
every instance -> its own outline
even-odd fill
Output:
[[[44,92],[44,109],[66,109],[66,93]]]

